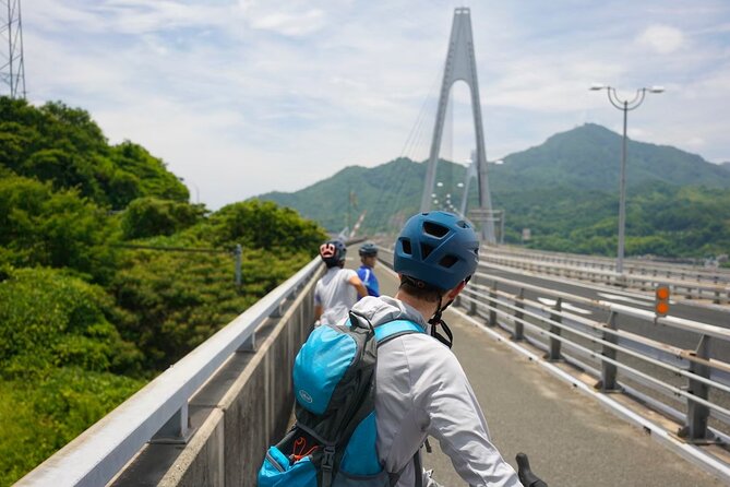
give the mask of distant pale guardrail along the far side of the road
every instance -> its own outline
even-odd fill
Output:
[[[715,304],[730,302],[730,284],[703,283],[696,281],[671,280],[660,275],[619,274],[588,266],[566,265],[519,257],[505,257],[494,252],[484,252],[480,266],[502,266],[503,270],[518,269],[539,274],[560,275],[578,281],[610,284],[639,290],[654,290],[659,285],[669,286],[675,296],[687,299],[706,299]]]

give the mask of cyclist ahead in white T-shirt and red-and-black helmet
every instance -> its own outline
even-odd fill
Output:
[[[320,246],[320,258],[327,272],[314,287],[314,319],[318,323],[336,324],[368,289],[351,269],[344,269],[347,247],[342,240],[328,240]]]

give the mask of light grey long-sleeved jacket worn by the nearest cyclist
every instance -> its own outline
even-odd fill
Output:
[[[456,356],[430,336],[422,316],[386,296],[366,297],[352,310],[375,326],[404,319],[427,331],[393,338],[378,349],[378,454],[388,472],[400,472],[397,486],[416,485],[414,455],[428,436],[439,440],[470,486],[522,486],[491,443],[481,407]],[[423,486],[438,485],[426,473],[420,475]]]

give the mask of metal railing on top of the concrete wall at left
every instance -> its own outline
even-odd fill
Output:
[[[198,348],[23,477],[19,486],[106,485],[151,440],[184,442],[188,402],[237,351],[255,346],[256,329],[319,276],[315,258]]]

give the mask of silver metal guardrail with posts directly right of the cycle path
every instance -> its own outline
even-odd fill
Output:
[[[650,311],[493,275],[477,274],[476,280],[488,280],[494,285],[470,283],[460,297],[467,301],[470,313],[487,316],[489,325],[503,328],[515,341],[528,340],[546,351],[549,360],[565,360],[595,376],[598,379],[596,389],[622,391],[682,423],[680,436],[691,442],[730,443],[730,363],[710,356],[711,342],[730,345],[729,329],[677,317],[657,317]],[[514,286],[519,293],[514,295],[499,290],[496,283]],[[555,304],[548,306],[526,299],[526,290],[554,297]],[[609,318],[606,322],[587,319],[566,310],[566,302],[603,310]],[[653,336],[622,330],[621,317],[692,333],[698,346],[696,349],[684,349]],[[593,348],[596,346],[598,349]],[[563,347],[594,360],[600,369],[571,356]],[[620,383],[619,375],[657,394],[648,395]],[[680,377],[686,383],[684,387],[673,384],[670,377]],[[686,408],[686,413],[677,409],[675,404],[666,399],[683,402],[681,406]],[[710,428],[710,417],[722,428]]]

